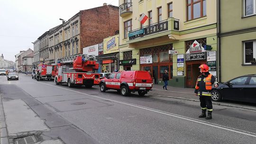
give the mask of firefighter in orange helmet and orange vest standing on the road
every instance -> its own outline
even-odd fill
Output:
[[[212,112],[212,103],[211,103],[211,86],[214,84],[214,87],[217,88],[219,86],[218,82],[215,81],[215,77],[209,73],[209,66],[207,64],[201,64],[200,75],[197,78],[195,93],[196,96],[199,96],[200,106],[202,109],[202,114],[199,116],[205,117],[205,119],[211,119]],[[206,116],[206,109],[208,110],[208,114]]]

